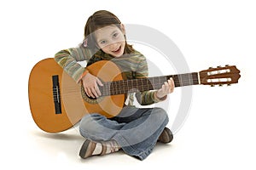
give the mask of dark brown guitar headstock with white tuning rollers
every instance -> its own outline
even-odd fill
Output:
[[[240,71],[236,68],[236,65],[225,65],[224,67],[218,66],[217,68],[210,67],[207,70],[200,71],[200,81],[204,85],[230,85],[237,83],[241,77]]]

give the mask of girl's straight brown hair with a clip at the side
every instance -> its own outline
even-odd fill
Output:
[[[92,14],[84,26],[84,46],[92,50],[98,50],[96,47],[96,39],[93,32],[104,26],[118,26],[121,30],[121,22],[117,16],[107,10],[99,10]],[[135,50],[131,45],[127,44],[125,37],[125,54],[130,54]]]

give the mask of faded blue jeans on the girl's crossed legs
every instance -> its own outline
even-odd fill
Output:
[[[143,160],[154,149],[168,121],[166,111],[161,108],[126,106],[110,119],[97,113],[84,116],[79,130],[86,139],[114,139],[127,155]]]

